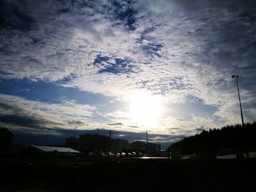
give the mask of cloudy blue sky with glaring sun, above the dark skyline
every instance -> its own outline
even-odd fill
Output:
[[[0,126],[170,145],[256,119],[256,1],[0,1]],[[50,138],[50,139],[49,139]],[[59,140],[58,140],[59,141]],[[60,141],[59,141],[60,142]]]

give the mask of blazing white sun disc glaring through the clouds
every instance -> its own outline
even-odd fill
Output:
[[[140,126],[157,126],[162,112],[161,98],[146,91],[136,91],[130,97],[129,112]]]

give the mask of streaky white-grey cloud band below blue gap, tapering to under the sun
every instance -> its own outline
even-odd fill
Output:
[[[133,126],[134,122],[129,116],[126,119],[118,116],[118,114],[128,115],[126,112],[117,111],[105,115],[99,113],[97,107],[77,104],[75,100],[62,100],[61,103],[49,104],[4,94],[0,94],[0,98],[0,125],[15,131],[40,134],[55,133],[59,129],[103,128],[116,131],[141,131],[139,126]],[[116,123],[117,120],[123,123]]]

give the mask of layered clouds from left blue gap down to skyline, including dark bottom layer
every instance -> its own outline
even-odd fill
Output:
[[[47,104],[29,101],[17,96],[1,94],[0,97],[0,125],[13,131],[15,142],[45,145],[50,144],[53,137],[56,137],[54,138],[54,144],[63,145],[66,137],[77,137],[85,133],[108,134],[109,130],[112,131],[115,138],[121,137],[129,139],[129,141],[145,139],[145,130],[141,130],[138,126],[108,123],[107,127],[99,129],[104,125],[93,119],[92,112],[95,111],[95,108],[83,105],[83,109],[87,109],[89,114],[84,117],[86,110],[80,113],[76,111],[80,106],[77,106],[78,104],[75,104],[75,101]],[[67,115],[65,115],[66,110],[69,111]],[[76,113],[70,115],[74,111]],[[154,131],[148,132],[150,142],[161,143],[164,147],[183,137],[184,135],[176,136],[159,134]]]

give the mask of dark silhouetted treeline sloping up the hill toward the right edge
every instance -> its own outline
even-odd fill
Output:
[[[223,128],[202,131],[180,142],[173,143],[168,148],[179,148],[182,154],[197,153],[200,150],[220,153],[223,149],[234,151],[256,150],[256,123],[246,123],[244,126],[225,126]]]

